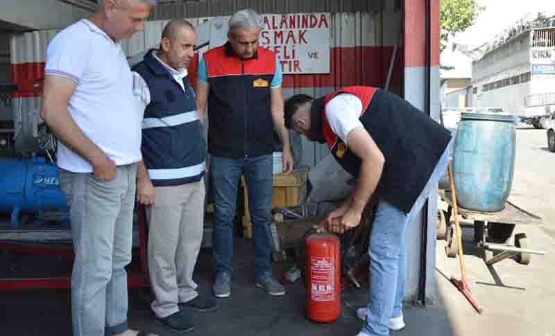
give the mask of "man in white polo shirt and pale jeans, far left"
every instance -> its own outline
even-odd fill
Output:
[[[42,118],[58,136],[58,166],[71,213],[75,336],[146,335],[127,326],[142,100],[121,40],[144,29],[155,0],[101,0],[62,30],[46,55]]]

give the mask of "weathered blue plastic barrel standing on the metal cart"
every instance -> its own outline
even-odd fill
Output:
[[[453,170],[459,206],[501,211],[511,193],[518,117],[462,113],[456,132]]]

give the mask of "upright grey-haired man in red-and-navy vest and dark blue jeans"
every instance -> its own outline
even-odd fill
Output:
[[[244,175],[255,245],[255,283],[283,295],[272,276],[270,204],[273,197],[274,130],[283,142],[283,167],[293,168],[289,133],[283,119],[282,71],[272,51],[258,46],[262,17],[239,10],[229,21],[228,42],[204,53],[198,65],[197,105],[208,106],[208,151],[216,222],[214,295],[230,297],[233,218],[237,186]]]

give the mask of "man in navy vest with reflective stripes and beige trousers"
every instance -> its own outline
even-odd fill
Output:
[[[137,200],[146,204],[148,270],[157,319],[170,330],[194,329],[184,309],[216,309],[211,297],[196,292],[193,270],[204,226],[205,140],[187,66],[194,56],[194,27],[171,21],[160,49],[146,53],[133,67],[135,91],[146,105]],[[144,80],[144,81],[142,81]]]

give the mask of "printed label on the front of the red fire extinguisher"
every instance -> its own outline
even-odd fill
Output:
[[[310,280],[310,297],[313,301],[333,301],[334,259],[332,257],[311,257]]]

